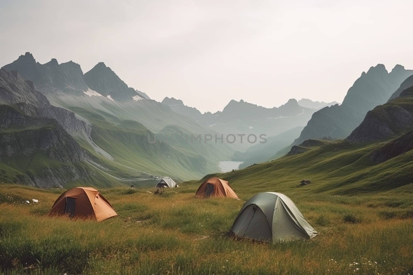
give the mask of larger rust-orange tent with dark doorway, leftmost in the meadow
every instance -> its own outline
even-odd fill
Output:
[[[112,205],[99,191],[91,187],[76,187],[60,195],[53,204],[51,215],[69,215],[103,221],[117,216]]]

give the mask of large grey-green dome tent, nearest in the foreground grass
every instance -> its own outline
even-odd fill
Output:
[[[310,239],[318,234],[289,197],[275,192],[258,193],[245,202],[231,232],[238,237],[273,243]]]

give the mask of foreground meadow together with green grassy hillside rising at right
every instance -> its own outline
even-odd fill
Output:
[[[161,195],[101,189],[119,214],[101,223],[47,216],[61,189],[1,184],[0,265],[9,274],[412,273],[413,155],[370,160],[384,144],[330,143],[218,175],[240,200],[195,199],[198,181]],[[319,235],[280,244],[228,237],[261,191],[289,196]],[[21,203],[32,198],[39,203]]]

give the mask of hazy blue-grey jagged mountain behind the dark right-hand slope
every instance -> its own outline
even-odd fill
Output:
[[[341,105],[325,107],[314,113],[294,144],[306,139],[345,138],[363,121],[369,110],[385,103],[410,75],[413,71],[405,70],[400,65],[396,65],[390,73],[382,64],[371,67],[354,82]]]

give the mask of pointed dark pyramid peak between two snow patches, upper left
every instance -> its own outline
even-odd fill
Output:
[[[103,62],[97,63],[95,67],[85,73],[83,78],[90,89],[98,92],[102,96],[119,101],[140,100],[143,98],[135,89],[128,87],[128,85]]]

